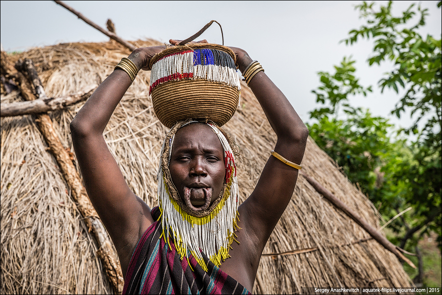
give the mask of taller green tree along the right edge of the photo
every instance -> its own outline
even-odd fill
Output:
[[[441,7],[441,1],[437,3]],[[403,236],[401,246],[422,228],[435,229],[441,245],[441,38],[431,35],[422,37],[417,30],[425,25],[428,9],[412,4],[402,16],[392,15],[392,1],[386,6],[374,8],[374,3],[362,2],[357,5],[360,17],[366,25],[350,31],[350,37],[343,40],[354,44],[359,38],[374,41],[373,56],[368,63],[381,64],[386,59],[394,61],[394,67],[386,77],[379,81],[379,87],[400,88],[406,94],[391,111],[400,118],[405,110],[411,110],[411,116],[417,114],[414,124],[402,131],[405,134],[418,134],[417,140],[410,146],[412,161],[403,161],[395,170],[393,179],[408,179],[408,194],[404,203],[413,205],[417,217],[410,229]],[[413,17],[416,24],[410,24]],[[426,120],[426,121],[424,121]],[[419,128],[419,123],[424,126]]]

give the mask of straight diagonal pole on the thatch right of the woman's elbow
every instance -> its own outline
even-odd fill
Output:
[[[305,175],[304,173],[301,173],[301,175],[310,183],[313,188],[323,195],[329,202],[339,210],[343,211],[345,214],[347,214],[351,219],[353,219],[359,226],[361,226],[370,236],[372,236],[375,240],[377,240],[384,248],[386,248],[388,251],[396,255],[398,258],[404,260],[407,264],[412,266],[413,268],[416,268],[414,266],[413,262],[411,262],[407,257],[405,257],[395,245],[393,245],[385,236],[382,236],[375,228],[373,228],[371,225],[369,225],[363,218],[361,218],[356,212],[354,212],[352,209],[350,209],[347,205],[342,203],[338,198],[336,198],[330,191],[328,191],[325,187],[323,187],[321,184],[319,184],[316,180],[313,178]]]

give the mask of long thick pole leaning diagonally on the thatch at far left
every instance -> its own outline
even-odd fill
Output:
[[[16,67],[20,70],[20,72],[17,72],[17,70],[15,70],[11,64],[7,63],[7,59],[2,59],[2,70],[5,69],[8,71],[8,75],[10,76],[20,76],[22,75],[20,72],[22,72],[24,76],[28,77],[28,81],[32,81],[38,97],[47,97],[31,60],[25,59],[17,63]],[[29,82],[26,81],[22,81],[22,83],[29,84]],[[22,85],[19,87],[22,88]],[[31,87],[25,86],[24,88]],[[33,100],[35,99],[35,96],[29,96],[27,99]],[[97,242],[99,248],[97,255],[102,260],[105,271],[111,280],[114,292],[121,293],[123,291],[124,279],[117,254],[112,248],[111,239],[105,227],[103,226],[98,214],[87,197],[87,193],[83,187],[80,175],[72,163],[69,153],[65,150],[61,144],[61,141],[56,135],[49,115],[38,114],[36,115],[35,121],[37,122],[39,130],[49,146],[49,150],[54,155],[63,177],[71,189],[72,198],[83,216],[85,225],[93,234],[95,241]]]

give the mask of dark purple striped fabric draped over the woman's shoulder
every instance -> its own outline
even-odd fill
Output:
[[[154,220],[160,210],[152,209]],[[208,263],[205,272],[189,253],[180,259],[170,240],[170,247],[162,234],[161,222],[154,222],[138,241],[127,270],[123,294],[250,294],[235,279],[227,275],[202,253]]]

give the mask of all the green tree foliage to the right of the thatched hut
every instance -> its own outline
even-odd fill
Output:
[[[386,218],[413,207],[412,214],[391,224],[399,246],[412,247],[428,231],[438,234],[441,246],[441,38],[418,33],[428,15],[420,6],[411,5],[399,17],[392,15],[392,1],[377,9],[364,1],[356,9],[365,25],[352,29],[343,42],[372,40],[369,65],[393,61],[378,87],[404,89],[391,114],[400,118],[410,111],[414,122],[390,139],[395,127],[387,119],[352,107],[349,98],[367,95],[371,87],[359,84],[355,61],[344,58],[335,73],[319,73],[321,86],[312,92],[323,106],[310,112],[317,119],[309,125],[310,135]],[[407,140],[411,134],[417,138]]]

